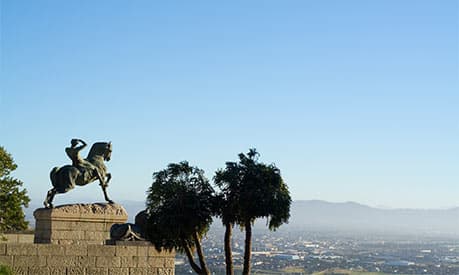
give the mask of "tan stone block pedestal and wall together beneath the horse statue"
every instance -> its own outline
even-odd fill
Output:
[[[174,252],[149,242],[105,245],[114,223],[125,223],[117,204],[72,204],[35,210],[35,243],[0,243],[0,263],[17,275],[172,275]],[[31,241],[31,238],[27,239]]]

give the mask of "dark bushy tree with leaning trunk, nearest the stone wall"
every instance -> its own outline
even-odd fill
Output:
[[[153,179],[147,192],[147,238],[159,250],[184,252],[196,273],[210,274],[201,239],[212,223],[214,190],[204,171],[183,161],[169,164]]]

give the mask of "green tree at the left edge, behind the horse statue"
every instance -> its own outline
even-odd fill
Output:
[[[10,176],[17,168],[13,157],[0,146],[0,233],[27,229],[28,222],[22,207],[28,207],[30,199],[22,181]]]

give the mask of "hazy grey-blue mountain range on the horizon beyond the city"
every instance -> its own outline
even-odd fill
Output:
[[[129,221],[145,208],[144,202],[120,201]],[[26,218],[33,226],[33,211],[41,205],[30,205]],[[459,237],[459,207],[452,209],[380,209],[355,202],[331,203],[321,200],[294,201],[291,217],[281,230],[387,233],[410,235],[445,235]],[[216,226],[220,223],[215,223]],[[265,228],[265,222],[256,229]]]

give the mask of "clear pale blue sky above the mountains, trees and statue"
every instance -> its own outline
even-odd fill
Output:
[[[35,203],[77,137],[113,142],[115,201],[255,147],[297,200],[459,205],[458,1],[159,2],[0,1],[0,145]]]

